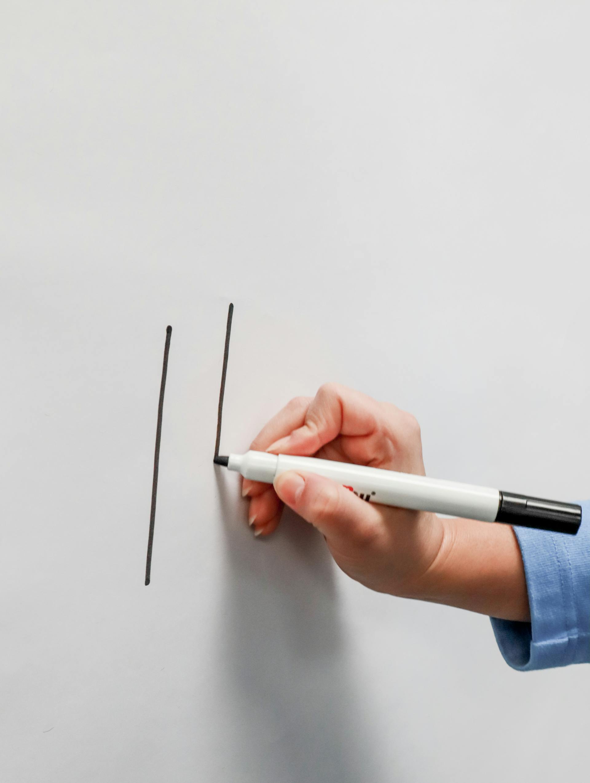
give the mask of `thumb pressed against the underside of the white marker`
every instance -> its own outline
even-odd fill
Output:
[[[326,536],[328,543],[360,546],[379,532],[379,509],[330,478],[285,471],[275,478],[274,486],[279,498]]]

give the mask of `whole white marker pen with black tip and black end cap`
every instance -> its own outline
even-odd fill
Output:
[[[311,456],[268,454],[249,451],[246,454],[215,456],[214,462],[225,465],[244,478],[272,484],[285,471],[308,471],[344,485],[367,503],[434,511],[454,517],[505,522],[527,528],[552,530],[575,535],[581,524],[581,506],[560,503],[516,493],[503,492],[472,484],[458,484],[441,478],[386,471],[380,467],[318,460]]]

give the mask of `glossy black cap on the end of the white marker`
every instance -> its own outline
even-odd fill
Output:
[[[581,525],[582,509],[577,503],[560,503],[559,500],[543,500],[542,497],[516,495],[500,490],[500,505],[495,521],[575,536]]]

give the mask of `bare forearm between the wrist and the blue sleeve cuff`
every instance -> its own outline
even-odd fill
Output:
[[[473,519],[441,523],[441,548],[413,597],[528,622],[527,583],[513,529]]]

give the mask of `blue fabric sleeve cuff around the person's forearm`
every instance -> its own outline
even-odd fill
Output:
[[[576,536],[514,528],[531,622],[491,618],[498,647],[513,669],[590,663],[590,500],[580,504]]]

